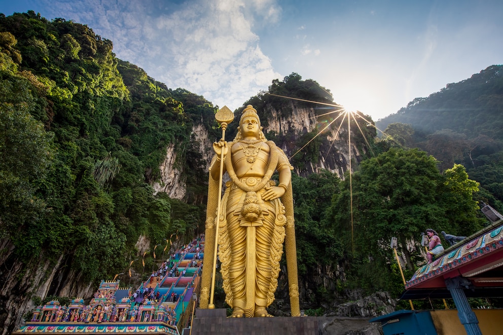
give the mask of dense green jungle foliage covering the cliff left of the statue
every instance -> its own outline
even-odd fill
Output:
[[[117,59],[86,25],[29,11],[0,31],[0,236],[19,259],[69,254],[92,281],[124,271],[140,235],[196,232],[207,176],[191,133],[215,128],[212,104]],[[185,202],[151,187],[169,144]]]

